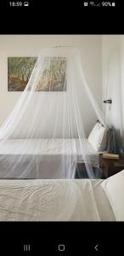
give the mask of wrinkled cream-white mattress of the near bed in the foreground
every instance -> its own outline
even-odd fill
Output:
[[[102,180],[0,180],[0,221],[114,221]]]

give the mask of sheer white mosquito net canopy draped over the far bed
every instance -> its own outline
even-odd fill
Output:
[[[94,177],[87,137],[97,119],[104,125],[78,49],[42,49],[0,129],[0,177],[74,178],[80,164]]]

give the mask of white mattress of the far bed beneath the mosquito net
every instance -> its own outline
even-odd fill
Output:
[[[36,154],[36,155],[59,155],[70,153],[70,148],[73,148],[72,154],[76,154],[77,162],[82,162],[82,149],[87,152],[88,156],[96,165],[99,159],[99,153],[96,152],[87,139],[9,139],[0,143],[0,155],[20,155],[20,154]]]

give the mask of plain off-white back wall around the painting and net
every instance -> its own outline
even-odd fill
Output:
[[[0,35],[0,125],[14,108],[21,92],[8,92],[8,56],[37,56],[44,47],[76,46],[81,50],[87,82],[102,104],[102,37],[99,35]],[[85,111],[86,109],[84,109]],[[87,133],[92,129],[89,113]]]

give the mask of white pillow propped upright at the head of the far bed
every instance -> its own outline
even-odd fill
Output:
[[[107,129],[97,122],[94,125],[93,130],[90,132],[87,138],[88,143],[90,143],[95,151],[104,151],[107,140]]]

